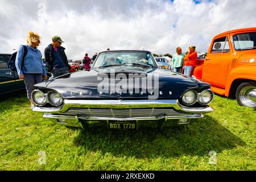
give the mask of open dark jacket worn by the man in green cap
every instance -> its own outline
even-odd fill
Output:
[[[64,64],[68,67],[68,70],[71,69],[71,66],[68,64],[68,58],[65,54],[65,48],[60,46],[59,49],[60,49],[60,55],[64,61]],[[49,46],[46,47],[46,49],[44,49],[44,57],[46,59],[46,65],[47,65],[48,71],[52,72],[53,61],[54,61],[54,55],[52,53],[52,44],[49,44]]]

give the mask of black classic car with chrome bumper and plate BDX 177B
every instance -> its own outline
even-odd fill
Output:
[[[183,125],[213,109],[210,85],[158,68],[149,51],[105,51],[90,70],[35,85],[33,111],[66,126]]]

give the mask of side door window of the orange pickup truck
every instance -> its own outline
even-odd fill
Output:
[[[224,37],[214,40],[212,51],[210,53],[225,53],[229,51],[228,37]]]

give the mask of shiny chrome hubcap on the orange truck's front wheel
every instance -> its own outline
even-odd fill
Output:
[[[240,100],[247,107],[256,106],[256,87],[245,86],[240,92]]]

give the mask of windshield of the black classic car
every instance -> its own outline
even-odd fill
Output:
[[[155,60],[150,52],[146,51],[109,51],[98,55],[93,68],[104,67],[106,65],[144,65],[157,67]]]

